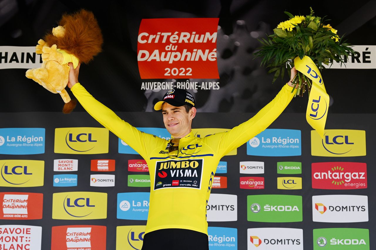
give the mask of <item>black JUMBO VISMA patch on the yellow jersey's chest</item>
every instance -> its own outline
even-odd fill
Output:
[[[201,188],[203,159],[157,161],[154,190]],[[162,182],[162,185],[159,184]]]

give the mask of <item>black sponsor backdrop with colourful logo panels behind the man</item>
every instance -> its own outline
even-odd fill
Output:
[[[41,65],[37,41],[64,12],[93,11],[103,32],[103,51],[81,67],[80,82],[122,119],[168,140],[152,107],[172,87],[196,100],[199,137],[227,131],[271,101],[282,84],[271,84],[273,76],[253,60],[257,39],[288,19],[283,11],[305,15],[309,6],[358,51],[346,68],[334,63],[321,72],[331,97],[324,138],[305,121],[305,96],[224,156],[207,205],[209,249],[376,249],[374,1],[341,11],[342,1],[0,2],[6,6],[0,12],[0,249],[142,246],[150,166],[79,104],[63,115],[60,96],[25,77],[26,69]],[[157,188],[177,184],[162,182],[167,175],[157,178]],[[191,181],[202,188],[200,179]]]

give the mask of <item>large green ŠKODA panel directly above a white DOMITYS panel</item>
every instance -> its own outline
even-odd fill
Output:
[[[247,196],[247,220],[259,222],[303,221],[302,196],[249,195]]]

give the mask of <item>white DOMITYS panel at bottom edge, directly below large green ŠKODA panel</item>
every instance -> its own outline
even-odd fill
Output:
[[[247,238],[247,250],[303,250],[303,229],[249,228]]]

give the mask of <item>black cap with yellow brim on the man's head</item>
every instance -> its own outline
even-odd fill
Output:
[[[188,105],[191,107],[195,106],[193,95],[184,89],[168,90],[163,96],[162,100],[154,105],[154,109],[161,110],[164,102],[167,102],[175,107],[180,107],[183,105]]]

